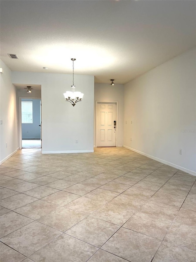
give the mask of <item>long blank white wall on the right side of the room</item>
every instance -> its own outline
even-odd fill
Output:
[[[192,173],[196,171],[195,54],[191,49],[125,84],[124,94],[124,145]]]

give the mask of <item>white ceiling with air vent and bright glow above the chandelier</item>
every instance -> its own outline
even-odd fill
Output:
[[[195,14],[191,0],[1,0],[1,59],[12,71],[71,74],[74,57],[75,74],[124,84],[193,48]]]

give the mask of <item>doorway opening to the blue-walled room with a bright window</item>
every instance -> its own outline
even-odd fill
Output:
[[[41,99],[20,98],[20,148],[41,148]]]

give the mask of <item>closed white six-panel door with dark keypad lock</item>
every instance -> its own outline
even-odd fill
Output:
[[[116,146],[116,103],[97,103],[96,146]]]

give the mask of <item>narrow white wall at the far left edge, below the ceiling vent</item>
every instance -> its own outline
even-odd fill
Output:
[[[0,74],[0,162],[4,162],[19,147],[17,115],[16,115],[16,88],[11,82],[11,71],[1,61],[4,73]],[[7,147],[6,147],[7,143]]]

